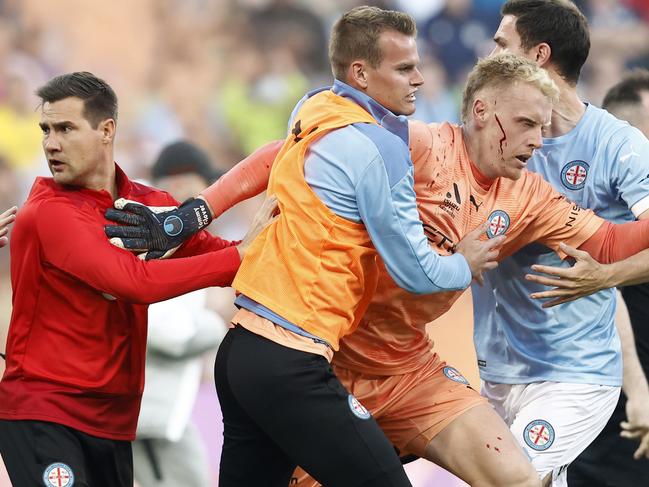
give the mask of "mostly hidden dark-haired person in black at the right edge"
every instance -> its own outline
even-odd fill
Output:
[[[649,71],[624,76],[606,93],[602,107],[649,136]],[[634,354],[625,355],[620,400],[599,436],[570,465],[571,487],[639,486],[649,479],[649,284],[625,286],[620,291],[624,300],[618,299],[618,332],[621,338],[628,334],[622,344],[636,349],[637,360]],[[638,387],[642,394],[627,397],[629,388]],[[622,429],[623,422],[633,429]],[[621,439],[621,434],[640,444]]]

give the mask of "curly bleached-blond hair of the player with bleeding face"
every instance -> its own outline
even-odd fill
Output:
[[[506,90],[516,82],[534,86],[553,102],[559,97],[559,88],[545,69],[515,54],[496,54],[480,59],[469,73],[462,93],[462,122],[467,122],[479,91],[494,87]]]

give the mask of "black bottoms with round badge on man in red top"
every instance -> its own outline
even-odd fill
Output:
[[[129,441],[45,421],[0,420],[0,453],[14,487],[133,487]]]

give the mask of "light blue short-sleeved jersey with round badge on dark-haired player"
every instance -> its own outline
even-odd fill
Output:
[[[543,139],[528,169],[568,199],[613,222],[632,221],[649,209],[649,141],[593,105],[587,105],[570,132]],[[531,244],[487,273],[484,287],[472,286],[480,377],[505,384],[620,386],[615,289],[543,309],[529,294],[548,288],[524,279],[535,263],[571,265],[549,248]]]

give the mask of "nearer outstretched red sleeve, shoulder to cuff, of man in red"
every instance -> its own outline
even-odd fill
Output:
[[[143,261],[111,245],[64,204],[43,204],[33,228],[44,262],[89,287],[127,302],[150,304],[209,286],[229,286],[240,264],[236,247],[197,257]],[[65,242],[61,235],[69,235]]]

